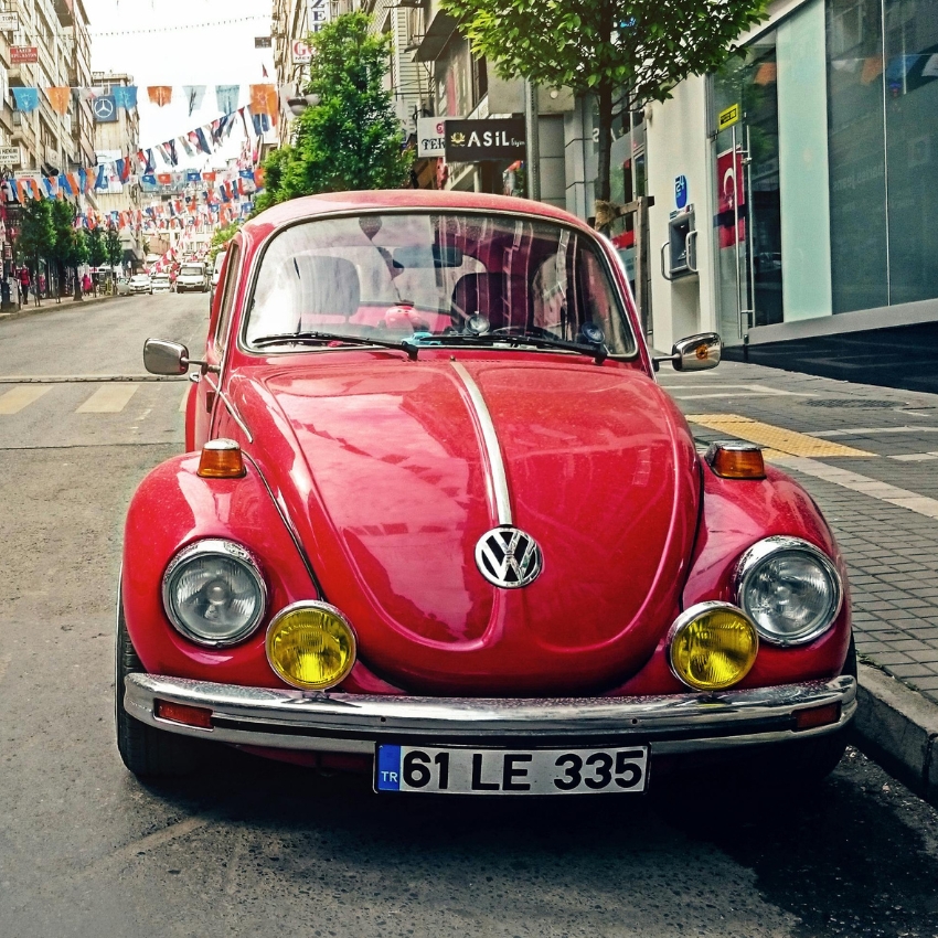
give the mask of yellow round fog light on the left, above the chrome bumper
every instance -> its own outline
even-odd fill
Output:
[[[303,691],[334,687],[355,663],[355,633],[327,603],[296,603],[267,629],[267,660],[288,683]]]

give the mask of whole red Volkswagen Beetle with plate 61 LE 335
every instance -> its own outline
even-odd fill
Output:
[[[680,370],[720,360],[679,342]],[[127,516],[117,737],[380,792],[628,793],[695,754],[831,770],[841,557],[757,447],[699,452],[612,246],[534,202],[298,199],[227,252],[186,452]]]

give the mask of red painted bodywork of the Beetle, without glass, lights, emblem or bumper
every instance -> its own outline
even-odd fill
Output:
[[[237,439],[248,475],[201,479],[190,455],[141,483],[127,521],[122,599],[148,670],[285,686],[266,662],[263,628],[241,646],[209,650],[169,623],[163,573],[201,537],[228,537],[257,555],[270,588],[268,619],[318,598],[321,587],[359,639],[359,661],[341,689],[387,694],[682,692],[667,662],[668,629],[687,606],[732,600],[732,568],[748,546],[795,535],[843,569],[797,483],[775,470],[760,481],[723,480],[697,458],[640,338],[633,360],[600,365],[552,352],[422,349],[409,361],[395,351],[239,348],[253,271],[276,231],[332,212],[395,207],[524,213],[589,235],[540,203],[409,191],[296,200],[245,225],[220,284],[227,290],[224,277],[236,277],[227,352],[215,342],[220,289],[205,359],[221,373],[203,374],[193,388],[186,446]],[[601,249],[640,337],[621,267],[611,247]],[[476,543],[498,516],[457,361],[491,413],[513,523],[543,551],[544,571],[524,589],[491,586],[475,564]],[[764,646],[740,686],[833,676],[849,639],[848,597],[835,626],[812,644]]]

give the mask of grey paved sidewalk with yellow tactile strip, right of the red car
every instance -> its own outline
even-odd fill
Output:
[[[769,460],[834,531],[857,651],[938,703],[938,395],[735,362],[696,374],[663,366],[659,380],[701,444],[770,433],[760,425],[796,431],[771,436]]]

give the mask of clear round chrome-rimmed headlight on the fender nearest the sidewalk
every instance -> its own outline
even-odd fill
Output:
[[[843,587],[827,554],[800,537],[766,537],[734,574],[736,601],[771,644],[807,644],[840,612]]]

